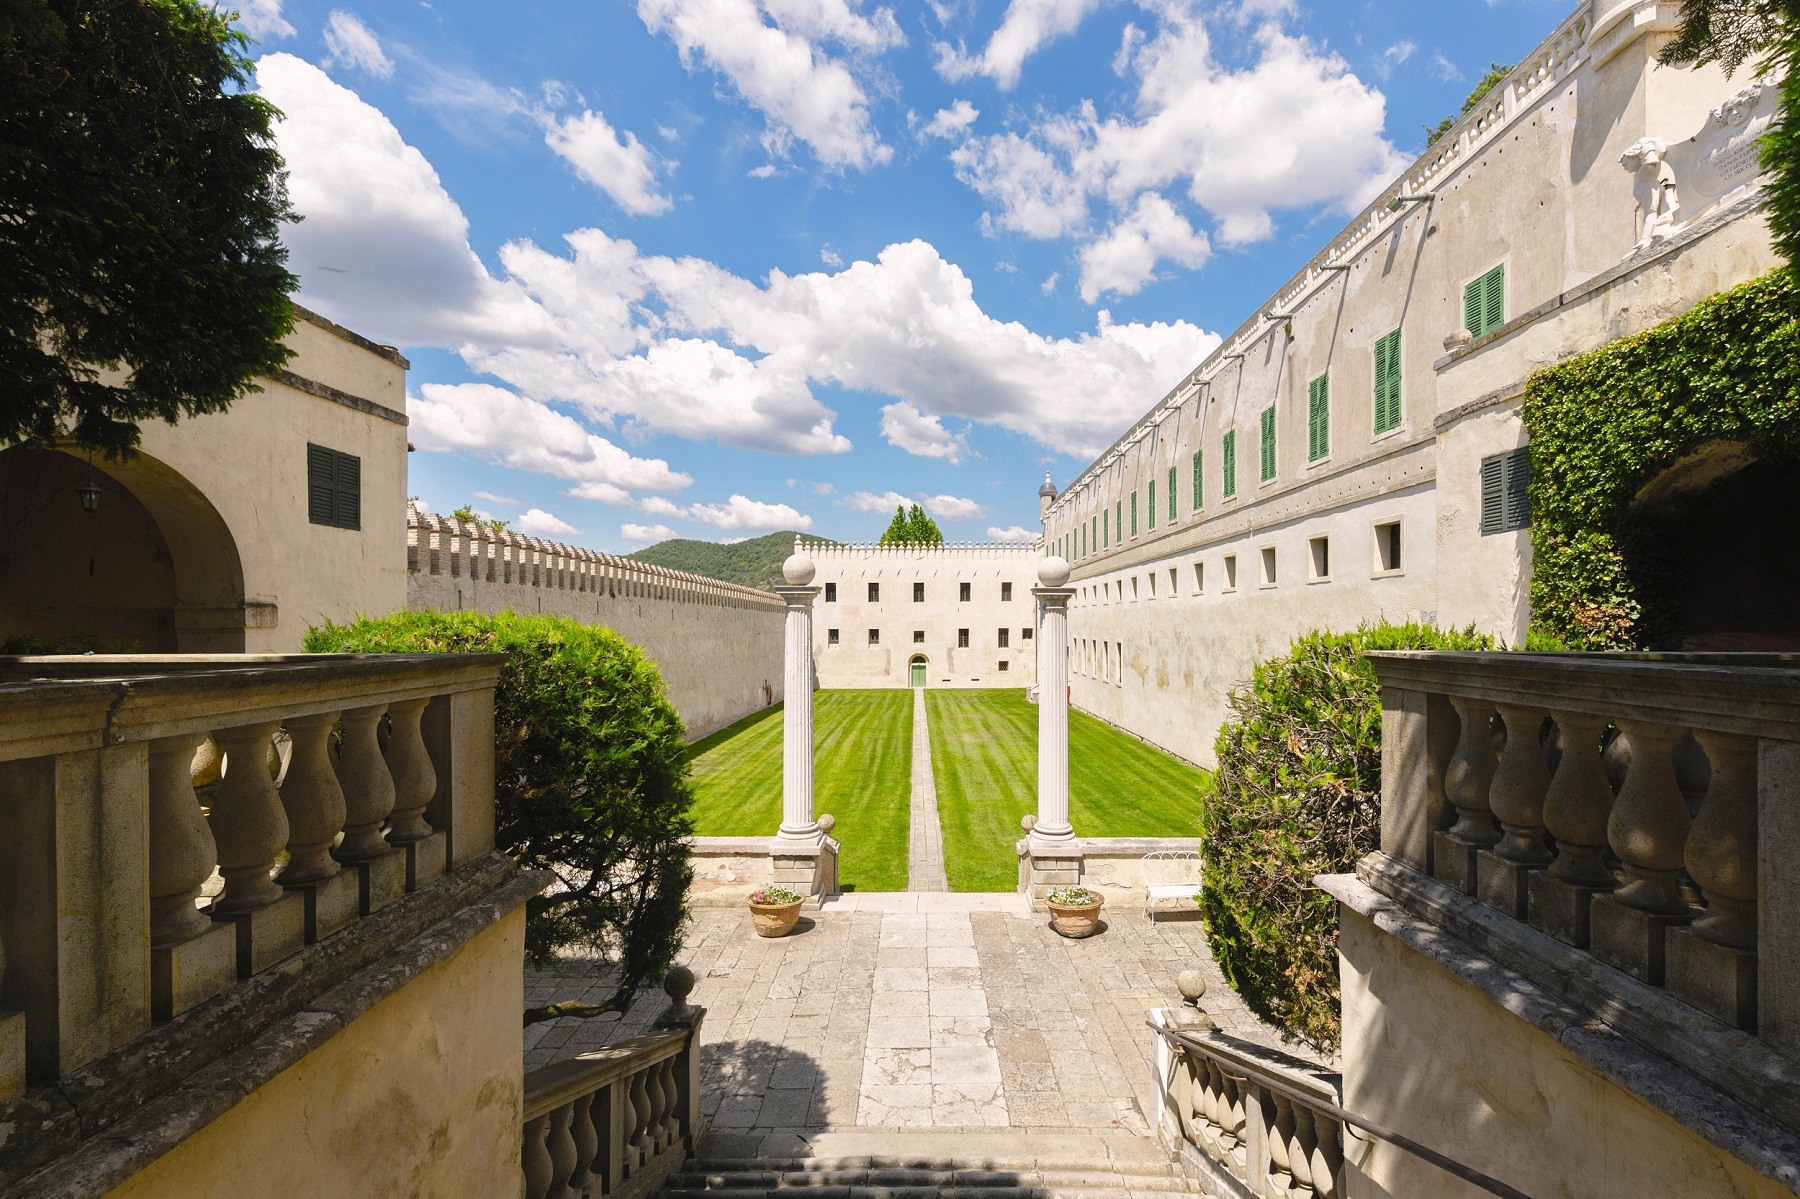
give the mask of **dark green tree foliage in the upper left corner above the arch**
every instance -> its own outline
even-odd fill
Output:
[[[0,0],[0,443],[130,454],[288,360],[274,106],[194,0]]]

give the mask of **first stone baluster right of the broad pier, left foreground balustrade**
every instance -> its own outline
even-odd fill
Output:
[[[194,794],[194,749],[203,733],[149,744],[149,943],[200,936],[212,922],[194,906],[212,877],[218,846]]]

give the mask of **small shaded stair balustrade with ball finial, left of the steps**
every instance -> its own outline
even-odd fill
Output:
[[[657,1194],[702,1134],[693,972],[671,967],[657,1032],[526,1075],[526,1199]]]

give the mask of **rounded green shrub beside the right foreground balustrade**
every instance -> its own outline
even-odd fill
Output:
[[[1467,630],[1312,632],[1231,693],[1201,801],[1201,909],[1219,969],[1264,1019],[1319,1050],[1339,1037],[1337,907],[1312,886],[1381,832],[1381,686],[1363,650],[1487,650]]]

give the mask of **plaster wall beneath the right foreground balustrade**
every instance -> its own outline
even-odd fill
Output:
[[[1553,1039],[1339,904],[1345,1107],[1528,1195],[1775,1199],[1784,1186],[1597,1075]],[[1346,1141],[1357,1199],[1476,1190]]]

